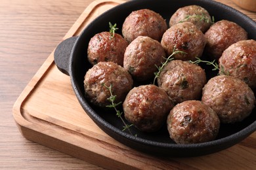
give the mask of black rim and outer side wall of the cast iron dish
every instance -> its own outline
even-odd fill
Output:
[[[128,1],[126,3],[123,3],[121,5],[118,5],[117,7],[114,7],[113,9],[110,9],[104,14],[98,16],[91,24],[89,24],[81,33],[81,35],[78,37],[77,41],[75,41],[74,48],[72,49],[72,54],[70,58],[70,77],[72,82],[72,87],[74,88],[75,95],[77,96],[77,99],[79,100],[79,103],[83,107],[83,109],[87,112],[87,114],[93,119],[93,121],[97,124],[98,127],[100,127],[105,133],[110,135],[110,137],[113,137],[120,143],[123,143],[127,146],[130,146],[131,148],[135,148],[137,150],[140,150],[142,152],[150,153],[150,154],[160,154],[160,155],[167,155],[167,156],[175,156],[175,157],[186,157],[186,156],[201,156],[204,154],[210,154],[213,152],[217,152],[219,150],[223,150],[225,148],[228,148],[243,139],[245,137],[249,136],[251,133],[253,133],[256,130],[256,121],[250,124],[249,126],[245,127],[241,131],[238,131],[237,133],[234,133],[232,135],[229,135],[227,137],[223,137],[221,139],[217,139],[215,141],[209,141],[207,143],[198,143],[198,144],[173,144],[173,143],[159,143],[156,141],[150,141],[147,139],[142,139],[140,137],[135,137],[134,135],[130,135],[129,133],[126,133],[124,131],[121,131],[115,126],[112,126],[108,122],[106,122],[104,119],[102,119],[95,110],[87,103],[85,98],[83,97],[83,90],[79,89],[79,86],[77,85],[79,82],[77,82],[77,76],[74,65],[74,56],[79,56],[79,48],[81,44],[84,42],[85,34],[87,33],[87,30],[92,29],[91,27],[94,26],[95,22],[98,22],[102,20],[102,18],[106,17],[106,15],[112,15],[118,10],[125,10],[127,8],[134,9],[135,6],[138,8],[148,2],[152,3],[154,0],[148,0],[148,1]],[[156,1],[155,1],[156,2]],[[181,1],[180,2],[186,2]],[[158,3],[161,3],[158,1]],[[238,10],[232,9],[231,7],[228,7],[226,5],[223,5],[222,3],[218,3],[216,1],[207,1],[207,0],[200,0],[197,1],[196,4],[200,3],[207,3],[207,5],[213,5],[213,7],[222,8],[224,10],[227,10],[228,12],[234,12],[236,15],[240,16],[241,18],[244,18],[246,22],[249,22],[249,24],[253,25],[256,29],[256,24],[251,18],[245,16]]]

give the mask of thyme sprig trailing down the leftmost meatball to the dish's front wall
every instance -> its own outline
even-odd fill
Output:
[[[106,86],[106,84],[102,84],[102,85],[103,85],[104,87],[106,87],[106,88],[110,91],[110,97],[108,97],[108,101],[111,102],[111,105],[106,105],[106,107],[114,108],[114,109],[116,110],[116,115],[117,115],[117,117],[120,118],[121,121],[122,121],[123,124],[124,124],[122,131],[127,130],[127,131],[129,131],[129,133],[130,133],[131,135],[133,135],[133,134],[131,133],[130,129],[129,129],[131,126],[133,126],[133,124],[126,124],[126,123],[125,123],[125,120],[123,120],[123,118],[122,118],[122,116],[121,116],[121,115],[123,114],[123,112],[120,112],[120,110],[117,110],[117,108],[116,108],[118,105],[121,105],[122,102],[120,101],[119,103],[115,103],[115,101],[116,101],[116,95],[113,95],[113,93],[112,93],[112,84],[110,84],[109,87]]]

